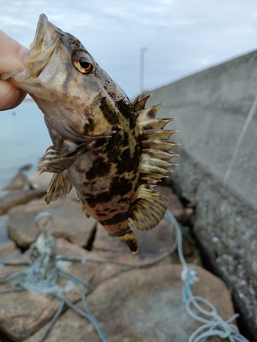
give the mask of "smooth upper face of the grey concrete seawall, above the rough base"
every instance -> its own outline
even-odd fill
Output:
[[[154,90],[149,104],[177,118],[174,139],[223,180],[238,136],[257,96],[257,51]],[[228,186],[257,209],[257,114],[238,149]]]

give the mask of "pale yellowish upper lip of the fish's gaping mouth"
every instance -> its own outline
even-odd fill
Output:
[[[23,60],[30,76],[36,78],[49,62],[56,44],[64,32],[50,23],[45,14],[40,14],[35,38],[30,44],[30,51]]]

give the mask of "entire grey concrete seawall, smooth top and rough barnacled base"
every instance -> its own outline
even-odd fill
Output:
[[[194,232],[210,267],[234,296],[242,324],[257,341],[257,112],[238,148],[228,187],[222,182],[257,95],[257,51],[153,91],[147,105],[177,118],[179,164],[170,180],[196,208]],[[214,239],[215,238],[215,239]]]

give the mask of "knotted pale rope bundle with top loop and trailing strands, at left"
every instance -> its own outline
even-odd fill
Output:
[[[41,219],[47,219],[47,221],[45,221],[44,224],[40,224]],[[82,317],[86,317],[86,319],[93,324],[102,342],[110,342],[106,332],[101,328],[99,321],[97,321],[92,313],[90,313],[86,306],[84,286],[88,287],[90,291],[93,291],[92,287],[90,287],[86,281],[63,272],[60,261],[56,259],[56,239],[47,233],[48,229],[53,224],[53,217],[49,213],[40,213],[36,216],[35,222],[38,228],[42,230],[42,233],[30,247],[31,261],[29,263],[25,263],[25,265],[29,265],[29,267],[27,267],[25,272],[17,272],[12,274],[12,276],[0,279],[0,283],[12,281],[12,284],[14,285],[13,289],[3,289],[0,293],[27,290],[32,293],[45,295],[46,297],[56,297],[60,300],[61,303],[58,311],[56,311],[56,314],[51,319],[49,326],[37,342],[42,342],[45,337],[47,337],[47,334],[53,327],[53,324],[55,324],[60,317],[65,304]],[[3,262],[2,264],[24,265],[24,263],[19,264],[10,262]],[[61,287],[57,284],[58,276],[68,280],[66,287]],[[83,309],[77,308],[77,306],[65,297],[65,293],[71,291],[75,286],[79,288]]]

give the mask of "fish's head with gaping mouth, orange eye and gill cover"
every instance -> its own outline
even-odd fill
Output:
[[[1,79],[28,92],[47,127],[76,142],[114,134],[122,126],[116,103],[129,101],[82,43],[45,14],[23,66]]]

